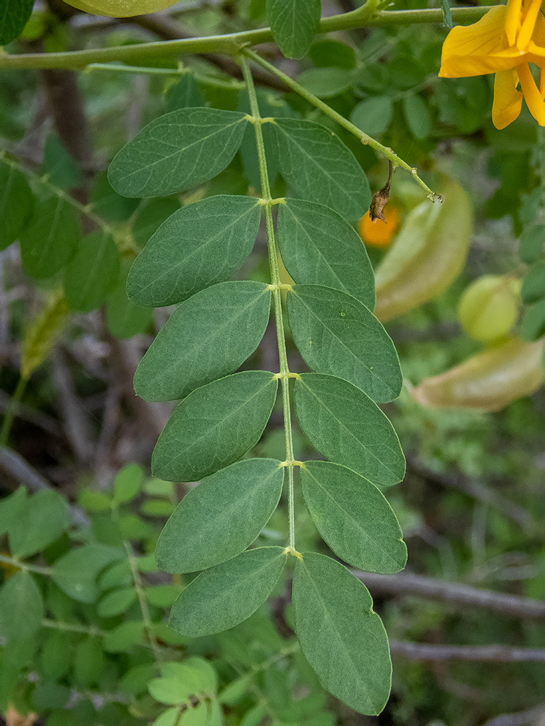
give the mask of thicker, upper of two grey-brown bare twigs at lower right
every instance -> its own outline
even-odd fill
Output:
[[[480,590],[469,585],[444,582],[408,572],[379,575],[374,572],[353,571],[371,590],[371,594],[416,595],[441,600],[443,603],[475,605],[501,615],[524,619],[545,619],[545,601],[506,595],[503,592]]]

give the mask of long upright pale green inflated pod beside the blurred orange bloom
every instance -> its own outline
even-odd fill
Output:
[[[464,189],[448,179],[443,203],[425,200],[408,214],[375,271],[379,320],[389,320],[433,298],[458,277],[473,231],[473,209]]]

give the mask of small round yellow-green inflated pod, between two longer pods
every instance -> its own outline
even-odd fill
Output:
[[[484,274],[461,295],[458,317],[469,338],[496,343],[517,320],[520,280],[510,275]]]

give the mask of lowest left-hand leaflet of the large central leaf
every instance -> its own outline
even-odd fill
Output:
[[[283,547],[257,547],[204,571],[172,605],[171,627],[187,637],[235,627],[267,600],[286,557]]]

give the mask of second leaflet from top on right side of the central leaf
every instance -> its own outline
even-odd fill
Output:
[[[334,287],[374,308],[375,280],[367,250],[340,214],[288,197],[278,206],[276,229],[283,263],[295,282]]]

